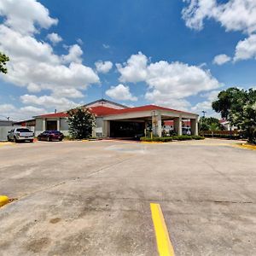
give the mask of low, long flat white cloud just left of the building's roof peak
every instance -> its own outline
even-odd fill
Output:
[[[63,111],[67,110],[68,108],[75,108],[78,106],[77,103],[72,102],[65,97],[35,96],[26,94],[20,96],[20,100],[24,104],[44,106],[47,108],[57,108],[58,111]]]

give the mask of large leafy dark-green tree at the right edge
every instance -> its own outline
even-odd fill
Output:
[[[212,108],[221,113],[230,125],[246,131],[248,141],[256,143],[256,90],[230,88],[218,94]]]

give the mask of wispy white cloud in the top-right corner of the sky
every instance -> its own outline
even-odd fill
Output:
[[[230,0],[218,3],[217,0],[183,0],[189,6],[183,9],[183,19],[190,28],[201,30],[203,21],[214,19],[226,31],[256,32],[255,0]]]

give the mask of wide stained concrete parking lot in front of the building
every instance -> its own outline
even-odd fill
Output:
[[[256,151],[236,142],[0,147],[1,255],[158,255],[158,203],[176,255],[256,254]]]

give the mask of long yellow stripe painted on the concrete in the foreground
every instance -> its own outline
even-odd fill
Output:
[[[150,204],[154,233],[160,256],[174,256],[172,242],[166,227],[165,218],[159,204]]]

